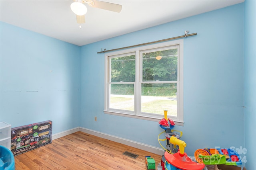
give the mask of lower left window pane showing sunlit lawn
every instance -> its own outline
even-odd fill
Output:
[[[109,107],[134,111],[134,84],[111,84]]]

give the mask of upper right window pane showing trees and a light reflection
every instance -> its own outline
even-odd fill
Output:
[[[178,49],[143,53],[143,81],[177,81]]]

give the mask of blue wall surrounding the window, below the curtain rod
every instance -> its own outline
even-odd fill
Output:
[[[243,23],[244,3],[83,46],[80,126],[160,147],[158,122],[104,114],[104,54],[97,52],[189,30],[198,35],[184,39],[185,123],[175,129],[183,131],[190,155],[205,147],[244,147]]]

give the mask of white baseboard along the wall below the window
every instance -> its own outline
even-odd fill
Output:
[[[79,131],[84,132],[84,133],[88,133],[90,135],[98,136],[98,137],[101,137],[101,138],[104,138],[104,139],[108,139],[110,141],[114,141],[114,142],[117,142],[117,143],[122,143],[124,145],[128,145],[130,147],[134,147],[134,148],[137,148],[137,149],[146,150],[146,151],[152,152],[154,154],[158,154],[158,155],[163,155],[164,154],[164,149],[154,147],[154,146],[151,146],[151,145],[146,145],[144,143],[139,143],[139,142],[132,141],[132,140],[129,140],[129,139],[124,139],[124,138],[117,137],[117,136],[114,136],[114,135],[109,135],[109,134],[102,133],[102,132],[99,132],[99,131],[94,131],[92,129],[86,129],[84,127],[80,127]]]

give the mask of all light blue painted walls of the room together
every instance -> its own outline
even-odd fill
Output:
[[[198,33],[184,39],[185,123],[175,129],[189,155],[246,147],[246,167],[254,169],[255,1],[82,47],[3,22],[0,28],[0,121],[17,127],[50,119],[54,134],[80,126],[155,147],[158,122],[104,114],[104,54],[97,52]]]

